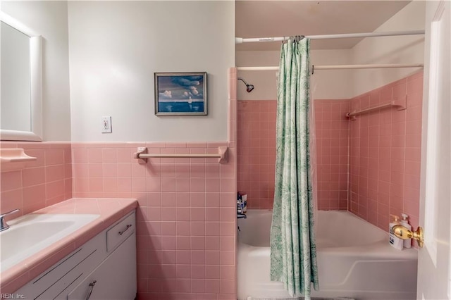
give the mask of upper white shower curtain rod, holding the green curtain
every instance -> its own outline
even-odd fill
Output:
[[[338,35],[306,35],[309,39],[345,39],[351,37],[391,37],[395,35],[424,35],[424,30],[407,30],[407,31],[391,31],[391,32],[363,32],[363,33],[342,33]],[[252,42],[283,42],[290,37],[255,37],[242,38],[235,37],[235,44],[252,43]]]

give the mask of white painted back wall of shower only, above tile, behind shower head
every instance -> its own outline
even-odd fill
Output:
[[[311,50],[310,62],[313,65],[340,65],[350,63],[349,50]],[[237,51],[238,67],[279,65],[280,51]],[[316,70],[311,76],[311,90],[314,99],[348,99],[352,93],[352,71]],[[238,82],[239,100],[271,100],[277,97],[276,71],[239,71],[247,83],[255,86],[248,93],[242,82]]]

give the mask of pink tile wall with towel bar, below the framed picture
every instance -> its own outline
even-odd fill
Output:
[[[139,299],[235,299],[235,154],[150,158],[149,153],[217,153],[228,143],[73,144],[76,197],[133,197]],[[229,144],[230,146],[230,144]]]

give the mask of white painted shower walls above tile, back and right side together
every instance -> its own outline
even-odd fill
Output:
[[[375,31],[424,29],[424,1],[412,1]],[[238,67],[278,65],[280,51],[237,51]],[[352,49],[311,50],[311,64],[423,63],[424,35],[371,37]],[[316,70],[311,76],[314,99],[350,99],[364,92],[416,73],[420,68]],[[240,77],[255,86],[247,93],[238,82],[240,100],[276,99],[276,72],[240,71]]]

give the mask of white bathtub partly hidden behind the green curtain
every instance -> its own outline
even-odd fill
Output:
[[[239,300],[290,297],[269,279],[271,216],[249,210],[237,222]],[[394,249],[387,232],[347,211],[319,211],[315,224],[320,290],[311,296],[416,299],[416,249]]]

